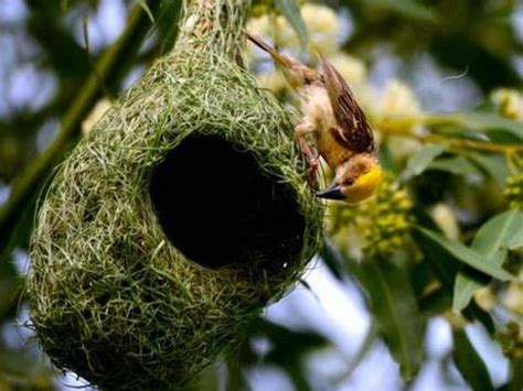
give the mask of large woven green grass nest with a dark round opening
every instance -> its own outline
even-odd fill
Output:
[[[28,301],[52,362],[103,389],[194,380],[317,250],[285,112],[237,65],[248,1],[184,4],[158,61],[60,166]]]

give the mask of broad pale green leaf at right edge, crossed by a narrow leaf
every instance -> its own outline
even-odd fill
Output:
[[[522,226],[523,214],[519,210],[509,210],[497,215],[481,226],[471,248],[483,256],[489,264],[495,268],[501,267],[506,258],[508,249],[514,240],[514,235],[517,236]],[[463,309],[476,291],[484,283],[485,281],[478,279],[477,275],[460,272],[456,279],[452,309]]]

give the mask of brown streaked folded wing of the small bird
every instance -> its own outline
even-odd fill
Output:
[[[337,140],[355,152],[373,152],[374,138],[365,113],[357,105],[349,85],[337,68],[327,59],[321,59],[322,73],[332,111],[338,122]]]

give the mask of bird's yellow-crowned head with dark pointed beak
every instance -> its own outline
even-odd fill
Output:
[[[318,197],[357,204],[370,198],[382,182],[383,171],[373,155],[356,155],[337,167],[334,181]]]

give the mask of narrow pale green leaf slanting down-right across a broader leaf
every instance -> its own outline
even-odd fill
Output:
[[[469,267],[481,271],[485,274],[489,274],[493,278],[497,278],[501,281],[510,281],[513,280],[513,275],[503,270],[500,267],[493,265],[489,263],[484,256],[480,254],[476,250],[469,249],[467,246],[462,245],[459,241],[453,241],[445,236],[425,229],[423,227],[417,226],[416,229],[423,233],[427,239],[431,240],[434,243],[444,248],[447,252],[453,256],[459,261],[468,264]]]

